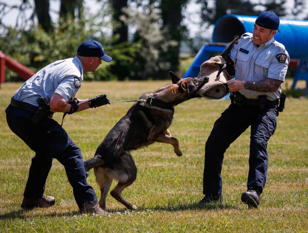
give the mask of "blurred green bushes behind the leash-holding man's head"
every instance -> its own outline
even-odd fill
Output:
[[[7,27],[5,34],[0,37],[0,44],[3,45],[1,50],[36,72],[56,60],[74,57],[81,42],[94,39],[103,45],[106,54],[114,60],[133,63],[132,58],[140,49],[138,43],[111,46],[112,38],[103,36],[101,31],[103,23],[94,23],[94,18],[77,22],[60,18],[59,26],[50,33],[38,26],[32,26],[29,30]],[[116,80],[110,68],[113,62],[102,62],[95,73],[84,74],[84,80]],[[7,81],[14,81],[15,77],[16,74],[6,71]]]

